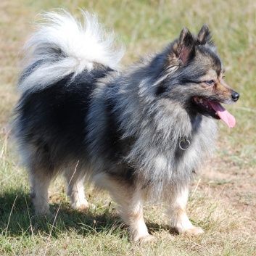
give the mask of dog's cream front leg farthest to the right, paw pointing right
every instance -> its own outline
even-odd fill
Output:
[[[202,228],[195,227],[186,215],[186,202],[189,196],[188,187],[179,191],[173,191],[170,198],[170,207],[168,208],[168,216],[170,217],[170,225],[176,228],[179,234],[191,234],[197,236],[204,233]]]

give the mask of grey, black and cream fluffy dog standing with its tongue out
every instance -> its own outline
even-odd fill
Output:
[[[49,183],[67,180],[72,207],[86,209],[83,183],[110,192],[133,241],[151,241],[144,200],[168,203],[170,226],[202,234],[186,215],[189,183],[212,153],[222,106],[239,94],[224,78],[207,25],[188,28],[157,54],[120,68],[123,46],[97,17],[43,14],[25,44],[13,134],[28,168],[36,214],[48,214]]]

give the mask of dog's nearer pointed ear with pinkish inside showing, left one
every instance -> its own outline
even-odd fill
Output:
[[[189,58],[194,55],[195,41],[188,28],[181,30],[181,35],[173,45],[173,53],[176,60],[186,65]]]

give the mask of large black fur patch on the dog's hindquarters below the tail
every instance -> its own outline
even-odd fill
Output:
[[[96,80],[107,71],[103,67],[84,71],[75,80],[70,75],[42,91],[22,95],[16,109],[18,132],[22,143],[35,147],[38,167],[52,172],[63,162],[86,157],[85,120],[91,94]]]

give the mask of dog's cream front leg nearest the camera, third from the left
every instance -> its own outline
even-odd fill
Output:
[[[110,192],[115,202],[120,205],[120,215],[129,226],[133,241],[152,241],[154,236],[149,235],[143,217],[143,200],[139,186],[116,180],[107,174],[98,174],[94,177],[97,186]]]

